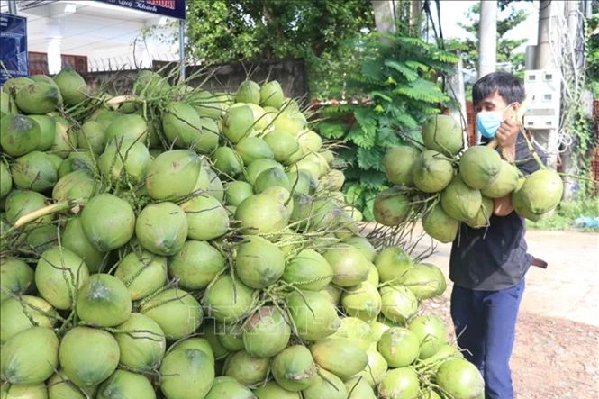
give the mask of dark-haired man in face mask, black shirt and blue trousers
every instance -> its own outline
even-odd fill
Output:
[[[481,144],[496,145],[502,158],[529,175],[540,168],[530,145],[543,152],[524,136],[519,111],[525,96],[522,81],[505,72],[480,78],[472,90]],[[524,276],[539,262],[527,253],[524,233],[524,219],[507,194],[493,199],[486,227],[460,223],[451,248],[451,318],[459,347],[485,378],[486,399],[513,398],[509,361]]]

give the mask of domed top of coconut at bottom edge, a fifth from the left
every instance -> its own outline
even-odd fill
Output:
[[[96,399],[124,399],[127,397],[156,399],[156,392],[147,376],[118,369],[98,387],[95,396]]]

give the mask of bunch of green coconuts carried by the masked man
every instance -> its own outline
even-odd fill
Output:
[[[447,115],[424,122],[422,145],[388,150],[384,168],[395,186],[377,196],[377,222],[393,226],[422,217],[424,231],[440,242],[455,240],[460,222],[486,228],[495,198],[511,195],[517,213],[538,221],[562,195],[561,178],[551,169],[541,165],[524,177],[493,147],[466,148],[458,122]]]

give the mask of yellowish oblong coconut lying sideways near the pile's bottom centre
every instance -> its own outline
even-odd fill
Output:
[[[318,340],[310,346],[317,365],[346,380],[368,365],[366,350],[343,338]]]

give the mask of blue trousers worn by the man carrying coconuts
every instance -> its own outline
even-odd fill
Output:
[[[524,278],[500,291],[453,286],[451,318],[458,346],[485,378],[486,399],[513,399],[510,357],[523,292]]]

